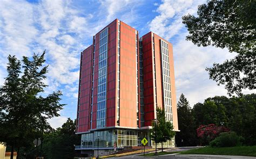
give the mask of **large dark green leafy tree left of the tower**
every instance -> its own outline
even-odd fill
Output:
[[[15,56],[8,57],[8,76],[0,87],[0,127],[4,130],[0,142],[11,146],[11,158],[15,148],[26,147],[42,136],[43,129],[50,127],[46,120],[58,116],[63,107],[60,91],[39,95],[46,87],[43,80],[48,72],[44,55],[34,54],[32,60],[23,56],[23,65]]]

